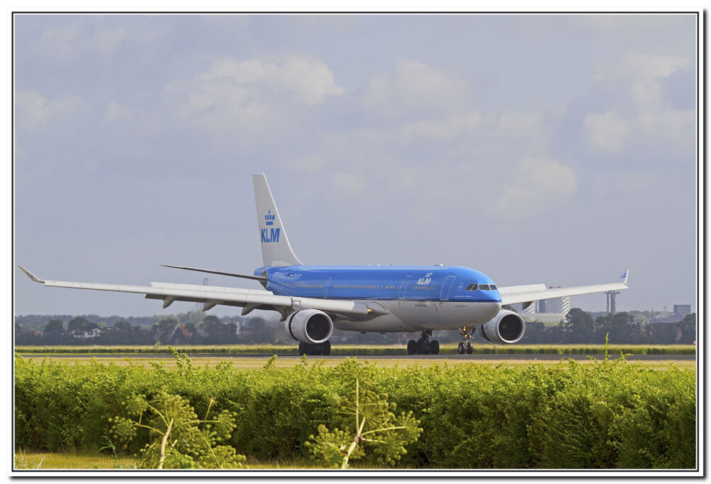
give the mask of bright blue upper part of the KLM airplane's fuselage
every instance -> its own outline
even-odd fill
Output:
[[[280,296],[501,303],[491,278],[468,267],[285,266],[260,267],[255,275],[264,271],[267,290]]]

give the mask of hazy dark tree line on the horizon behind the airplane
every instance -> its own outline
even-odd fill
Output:
[[[200,311],[176,316],[141,318],[146,324],[132,324],[132,318],[112,316],[112,321],[90,321],[77,316],[65,323],[62,318],[45,319],[41,330],[28,329],[22,318],[28,318],[32,327],[42,316],[20,316],[15,321],[16,345],[230,345],[255,343],[294,343],[276,319],[260,317],[233,318],[205,316]],[[47,318],[47,316],[45,316]],[[555,326],[544,323],[526,323],[521,344],[538,343],[604,343],[615,344],[665,344],[693,343],[696,339],[696,313],[685,316],[679,323],[648,323],[631,313],[616,313],[595,319],[579,308],[573,308]],[[334,330],[334,343],[392,344],[406,343],[413,333],[354,333]],[[434,337],[442,343],[461,340],[456,331],[435,331]],[[478,333],[475,340],[487,343]]]

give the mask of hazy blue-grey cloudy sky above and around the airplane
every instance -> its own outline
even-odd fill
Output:
[[[695,308],[697,42],[682,14],[15,15],[15,260],[110,284],[252,274],[263,172],[304,264],[499,286],[629,268],[619,311]],[[16,315],[194,307],[14,277]]]

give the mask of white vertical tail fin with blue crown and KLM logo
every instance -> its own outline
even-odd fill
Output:
[[[265,266],[301,266],[292,246],[289,245],[287,232],[279,217],[279,210],[274,203],[272,190],[264,173],[252,173],[255,184],[255,202],[257,203],[257,225],[262,241],[262,259]]]

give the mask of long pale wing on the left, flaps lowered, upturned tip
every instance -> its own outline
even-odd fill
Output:
[[[239,306],[243,308],[243,315],[250,313],[254,309],[267,309],[279,311],[285,317],[292,311],[306,308],[319,309],[327,313],[361,316],[377,316],[379,313],[383,313],[383,308],[380,305],[365,301],[276,296],[270,291],[234,287],[194,286],[192,284],[173,284],[171,282],[151,282],[150,286],[128,286],[92,282],[46,281],[39,279],[24,267],[19,267],[30,279],[45,286],[145,294],[146,299],[161,299],[164,308],[170,306],[173,301],[189,301],[203,303],[203,311],[208,311],[208,309],[218,304]]]

